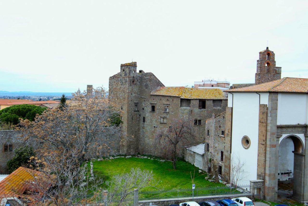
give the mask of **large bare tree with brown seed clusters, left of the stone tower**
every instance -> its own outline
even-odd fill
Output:
[[[61,201],[74,205],[99,188],[102,181],[95,180],[93,175],[89,177],[83,163],[86,155],[112,152],[110,142],[99,144],[95,138],[120,138],[120,116],[120,111],[107,99],[77,95],[66,107],[46,110],[33,122],[21,120],[26,141],[39,143],[32,166],[52,182],[52,190],[44,196],[51,197],[53,204]]]

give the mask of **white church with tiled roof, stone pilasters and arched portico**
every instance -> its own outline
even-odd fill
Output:
[[[282,78],[227,92],[231,157],[245,162],[238,184],[262,179],[265,198],[273,201],[278,180],[294,178],[293,197],[307,202],[308,79]]]

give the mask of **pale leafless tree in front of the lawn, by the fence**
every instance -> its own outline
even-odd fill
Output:
[[[106,184],[109,186],[109,204],[112,201],[117,201],[118,205],[125,205],[125,198],[133,193],[135,189],[155,187],[157,182],[153,179],[152,171],[132,168],[130,173],[115,175]]]

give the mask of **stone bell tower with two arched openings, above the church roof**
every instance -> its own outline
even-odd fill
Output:
[[[257,73],[255,75],[255,84],[274,81],[281,78],[281,67],[276,67],[275,53],[268,47],[259,52],[257,60]]]

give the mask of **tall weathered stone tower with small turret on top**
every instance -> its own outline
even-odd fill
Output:
[[[125,143],[121,153],[136,154],[140,144],[140,116],[148,106],[150,93],[164,86],[152,73],[137,71],[137,62],[121,64],[120,72],[109,78],[108,99],[120,108]]]

